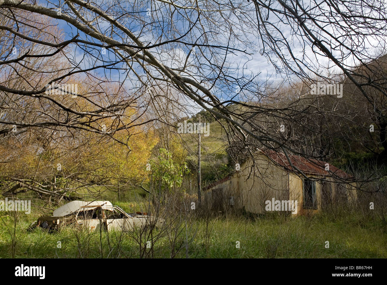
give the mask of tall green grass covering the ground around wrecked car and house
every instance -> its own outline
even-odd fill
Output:
[[[140,191],[125,193],[118,200],[113,191],[103,191],[98,200],[110,200],[128,213],[148,211],[149,199]],[[161,229],[147,232],[79,230],[72,226],[48,233],[28,225],[48,206],[37,197],[31,214],[0,213],[0,257],[33,258],[376,258],[387,257],[385,194],[365,193],[348,207],[333,207],[314,216],[244,215],[228,211],[192,210],[195,197],[178,194],[167,197],[159,211],[165,219]],[[380,196],[380,197],[379,197]],[[375,202],[375,210],[370,209]],[[155,205],[151,205],[156,214]],[[151,241],[151,247],[147,242]],[[326,247],[329,242],[329,248]],[[59,246],[60,245],[60,246]],[[237,247],[239,245],[239,247]]]

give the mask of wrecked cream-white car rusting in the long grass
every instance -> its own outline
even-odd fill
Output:
[[[29,230],[36,227],[45,230],[58,230],[60,227],[75,224],[94,230],[123,230],[147,229],[150,226],[161,227],[164,220],[147,213],[128,214],[109,201],[72,201],[53,211],[52,216],[41,216],[34,221]]]

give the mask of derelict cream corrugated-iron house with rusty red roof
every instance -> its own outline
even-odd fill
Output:
[[[341,169],[296,155],[289,155],[289,160],[291,164],[283,153],[259,151],[254,161],[242,161],[232,176],[204,188],[205,205],[217,211],[244,208],[255,214],[304,215],[356,199],[352,176]]]

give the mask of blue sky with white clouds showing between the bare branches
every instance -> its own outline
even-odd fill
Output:
[[[112,0],[102,0],[101,7],[105,7],[106,10],[108,10],[108,7],[111,7],[111,2]],[[189,0],[188,0],[189,1]],[[189,3],[188,1],[178,1],[175,3],[180,3],[182,5],[187,5]],[[228,3],[226,0],[223,3]],[[41,2],[41,3],[47,3],[47,2]],[[58,5],[58,1],[52,2],[54,4]],[[63,1],[61,1],[61,4]],[[133,7],[133,4],[136,3],[136,5]],[[222,3],[222,1],[218,2]],[[120,2],[120,4],[123,7],[127,7],[127,12],[131,13],[131,17],[128,17],[126,19],[121,19],[120,22],[123,22],[127,28],[129,28],[135,35],[139,35],[140,39],[143,42],[148,42],[149,44],[155,43],[156,38],[159,36],[162,36],[162,30],[163,28],[168,29],[171,28],[173,25],[174,29],[178,29],[180,34],[184,33],[185,31],[188,31],[188,24],[187,21],[184,19],[182,15],[177,15],[175,13],[175,16],[173,17],[173,22],[170,21],[168,17],[164,18],[164,15],[168,12],[166,10],[166,7],[162,2],[160,1],[143,1],[143,2],[134,2],[133,0],[130,1],[125,1],[125,2]],[[49,5],[52,4],[47,4],[48,7]],[[243,52],[238,52],[235,51],[234,54],[228,54],[227,56],[227,61],[226,65],[229,68],[229,75],[234,76],[236,78],[241,78],[242,75],[245,78],[253,78],[255,77],[255,82],[257,85],[264,83],[265,81],[269,80],[271,82],[277,83],[278,85],[282,84],[282,81],[285,79],[284,73],[277,73],[276,69],[274,66],[269,62],[267,57],[262,55],[262,41],[260,37],[251,29],[251,26],[249,26],[248,21],[247,23],[244,23],[242,26],[239,23],[239,19],[247,19],[254,21],[254,10],[253,7],[251,6],[251,2],[245,2],[245,1],[239,1],[239,2],[233,2],[233,5],[235,7],[239,7],[239,12],[235,10],[226,10],[223,11],[224,14],[227,15],[228,17],[228,24],[232,23],[233,26],[231,30],[238,36],[240,36],[241,41],[233,41],[231,42],[231,46],[241,49],[241,50],[246,50],[247,53]],[[249,6],[250,5],[250,6]],[[276,5],[275,2],[272,5]],[[277,3],[278,5],[278,3]],[[118,8],[115,8],[118,9]],[[149,14],[151,14],[152,17],[149,17]],[[209,12],[209,14],[211,14]],[[177,15],[177,16],[176,16]],[[137,17],[134,17],[137,16]],[[265,16],[265,15],[264,15]],[[191,20],[196,19],[197,17],[197,12],[195,10],[189,10],[188,17],[190,17]],[[214,16],[216,18],[217,16]],[[156,23],[151,24],[151,19],[155,19]],[[269,22],[276,22],[278,19],[276,19],[276,15],[269,14]],[[147,23],[147,25],[144,27],[143,22]],[[149,21],[149,22],[147,22]],[[213,25],[210,24],[209,22],[206,22],[205,20],[202,20],[201,24],[203,24],[205,27],[207,27],[207,30],[211,33],[208,33],[207,36],[209,36],[209,41],[210,43],[219,45],[223,44],[226,45],[228,42],[228,33],[222,33],[222,29],[226,28],[226,23],[223,22],[221,18],[219,18],[219,25]],[[67,23],[63,21],[59,21],[59,26],[60,28],[63,28],[63,30],[66,33],[66,40],[73,37],[76,35],[79,31],[75,29],[72,26],[69,26]],[[312,66],[313,69],[316,72],[319,73],[326,73],[327,70],[329,70],[331,73],[340,73],[339,69],[332,64],[329,60],[327,60],[325,57],[321,55],[315,55],[312,52],[312,48],[310,43],[304,42],[301,40],[299,35],[294,35],[291,33],[291,29],[289,28],[289,24],[284,22],[282,24],[278,23],[276,27],[272,28],[273,33],[278,33],[275,29],[278,28],[278,30],[283,34],[283,36],[286,38],[288,41],[291,50],[293,54],[297,57],[297,59],[302,60],[305,62],[305,64],[308,64],[308,66]],[[108,32],[109,25],[107,22],[101,23],[99,26],[99,29],[106,29],[106,32]],[[219,30],[217,30],[219,29]],[[335,27],[327,27],[327,31],[332,34],[340,34],[341,31],[335,30]],[[201,41],[201,35],[199,33],[200,31],[192,31],[190,33],[190,37],[192,37],[194,40],[198,40],[200,43]],[[320,34],[322,38],[324,38],[324,34]],[[80,33],[80,38],[84,40],[92,40],[96,41],[95,39],[91,39],[89,36],[84,35],[83,33]],[[122,41],[118,37],[118,35],[115,35],[113,37],[115,40]],[[170,40],[172,37],[163,36],[162,40]],[[185,41],[189,41],[188,37],[183,38]],[[252,45],[244,45],[243,41],[248,40]],[[349,40],[349,39],[347,39]],[[346,41],[346,39],[343,39],[343,41]],[[380,39],[369,37],[364,39],[364,43],[358,43],[359,46],[365,45],[366,47],[370,47],[372,53],[372,48],[376,51],[377,46],[382,46],[383,42],[380,41]],[[165,47],[165,48],[164,48]],[[267,48],[267,47],[265,47]],[[190,47],[183,45],[183,44],[178,44],[178,45],[172,45],[172,44],[167,44],[163,47],[155,47],[151,49],[152,54],[161,62],[163,62],[166,66],[169,67],[180,67],[179,65],[182,64],[182,62],[185,61],[185,57],[188,55],[188,52],[190,51]],[[221,50],[218,50],[221,52]],[[111,52],[107,52],[105,55],[100,54],[100,50],[95,50],[93,54],[95,56],[99,56],[100,58],[103,58],[103,60],[114,60],[115,55]],[[281,49],[281,52],[283,53],[284,57],[289,59],[289,52],[287,49]],[[336,55],[340,55],[340,52],[344,51],[333,51]],[[74,54],[75,60],[79,63],[81,62],[82,67],[89,67],[92,65],[92,63],[95,63],[96,65],[101,64],[101,61],[98,61],[92,57],[86,56],[84,58],[85,53],[82,51],[80,48],[74,48],[72,50],[72,53]],[[209,50],[204,50],[204,54],[206,56],[210,56]],[[222,55],[219,56],[219,59],[222,59]],[[271,55],[271,59],[276,61],[276,57],[274,55]],[[203,68],[206,64],[206,61],[204,59],[195,59],[194,57],[191,57],[189,60],[192,60],[193,66],[191,69],[188,69],[190,71],[190,75],[192,78],[195,78],[197,80],[200,79],[197,74],[199,71],[197,70],[198,68]],[[279,69],[283,68],[281,66],[280,62],[277,60],[279,64]],[[354,66],[357,62],[352,58],[348,57],[345,60],[343,60],[346,64],[350,66]],[[125,64],[117,64],[117,67],[127,67]],[[144,75],[144,72],[140,66],[134,66],[135,70],[138,74]],[[157,74],[157,71],[150,68],[152,72]],[[200,70],[202,73],[205,74],[205,69]],[[103,74],[103,70],[98,70],[100,74]],[[113,81],[120,81],[122,82],[123,78],[125,78],[127,75],[129,78],[125,82],[125,85],[128,86],[128,88],[132,86],[139,86],[140,84],[136,82],[135,76],[133,73],[130,71],[128,72],[127,70],[125,71],[109,71],[109,78],[110,80]],[[187,76],[187,74],[184,74]],[[214,74],[211,71],[208,71],[207,74],[208,77],[213,76]],[[294,78],[294,80],[297,80]],[[240,82],[242,82],[241,80]],[[224,100],[227,100],[229,98],[234,98],[240,99],[242,93],[237,94],[239,90],[239,87],[236,82],[233,82],[233,80],[230,77],[230,80],[226,83],[225,81],[217,81],[216,85],[214,88],[211,90],[213,93],[215,93],[219,98],[223,98]]]

